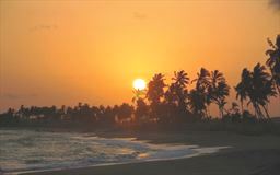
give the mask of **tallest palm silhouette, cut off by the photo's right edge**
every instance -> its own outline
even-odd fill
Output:
[[[266,55],[269,56],[266,65],[270,69],[273,83],[280,96],[280,35],[277,36],[276,44],[273,44],[269,38],[267,42],[271,48],[266,51]]]

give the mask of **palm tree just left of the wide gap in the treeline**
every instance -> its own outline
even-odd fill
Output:
[[[208,86],[208,98],[219,106],[220,117],[223,118],[225,97],[230,94],[230,86],[226,84],[223,73],[219,70],[211,71],[210,84]]]

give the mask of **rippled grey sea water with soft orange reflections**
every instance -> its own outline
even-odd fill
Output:
[[[152,144],[94,133],[0,129],[0,174],[182,159],[219,149]]]

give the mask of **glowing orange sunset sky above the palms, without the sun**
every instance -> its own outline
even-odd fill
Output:
[[[0,112],[131,102],[135,79],[180,69],[233,86],[277,34],[279,0],[0,0]],[[280,116],[279,98],[269,109]]]

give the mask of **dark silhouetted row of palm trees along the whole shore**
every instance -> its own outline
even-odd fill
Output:
[[[170,84],[164,74],[153,75],[145,90],[135,90],[133,105],[124,103],[115,106],[90,106],[79,103],[74,107],[21,106],[9,108],[0,115],[0,124],[22,122],[83,122],[97,126],[124,124],[184,124],[195,120],[211,120],[211,104],[219,108],[218,118],[224,121],[242,122],[269,120],[268,104],[271,96],[280,95],[280,35],[270,48],[266,66],[257,63],[253,70],[243,69],[236,91],[238,105],[233,102],[226,108],[230,85],[219,70],[201,68],[194,80],[184,70],[175,71]],[[189,89],[194,84],[192,89]],[[280,96],[279,96],[280,97]],[[246,107],[252,105],[254,112]]]

